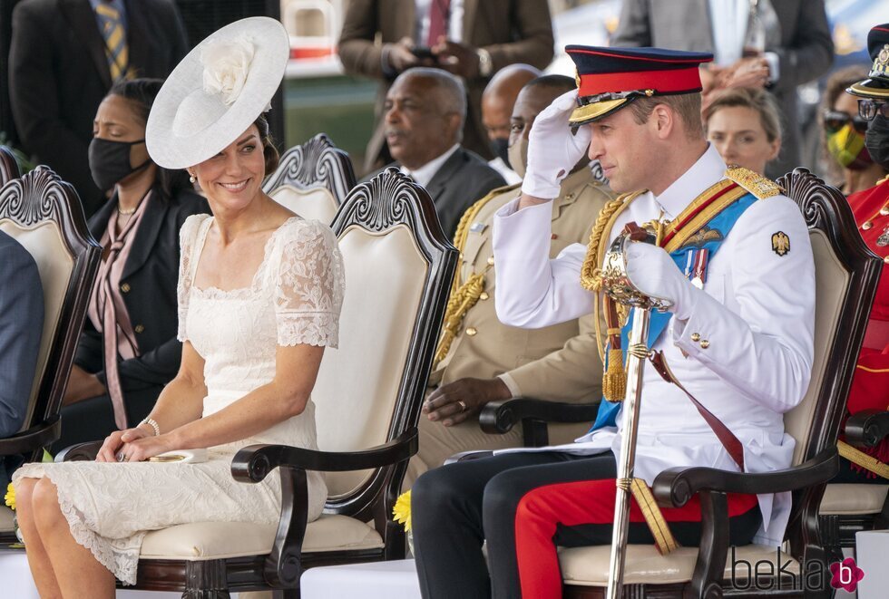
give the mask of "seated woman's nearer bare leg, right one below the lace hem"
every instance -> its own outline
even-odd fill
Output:
[[[49,478],[41,478],[32,498],[37,532],[43,541],[55,579],[67,598],[114,598],[114,576],[92,552],[71,536],[71,528],[59,507],[58,492]]]

